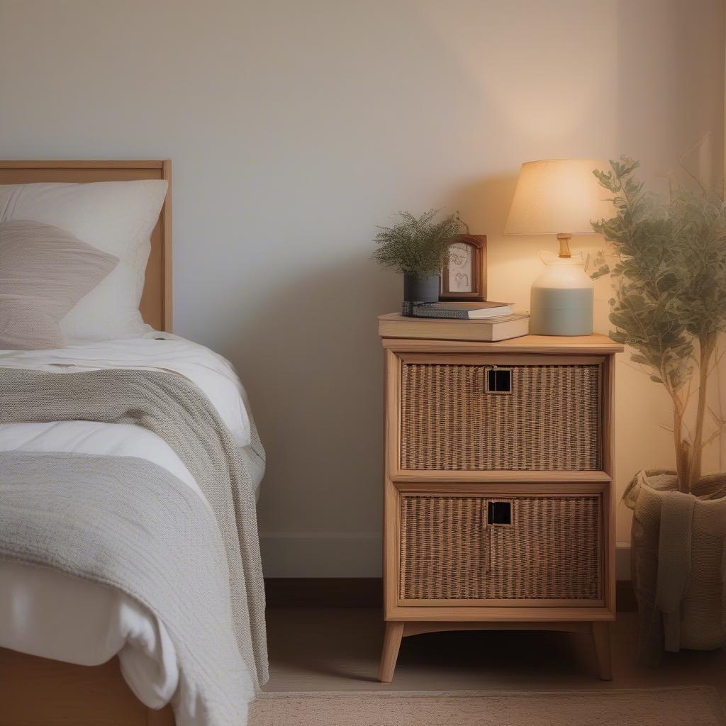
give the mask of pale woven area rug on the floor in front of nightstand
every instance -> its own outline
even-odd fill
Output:
[[[715,688],[264,693],[249,726],[726,726]]]

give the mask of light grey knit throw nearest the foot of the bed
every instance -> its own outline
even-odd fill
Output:
[[[178,726],[246,722],[254,687],[232,635],[227,558],[197,492],[134,457],[0,452],[0,502],[1,559],[116,587],[163,621]]]

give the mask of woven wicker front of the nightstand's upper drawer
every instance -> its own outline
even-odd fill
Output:
[[[600,469],[600,367],[520,365],[511,393],[489,366],[404,364],[401,469]]]

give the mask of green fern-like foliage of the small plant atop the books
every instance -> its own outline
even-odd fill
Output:
[[[384,267],[415,277],[438,274],[447,261],[449,243],[459,234],[454,215],[436,221],[439,210],[430,209],[420,217],[399,212],[401,221],[393,227],[379,227],[375,236],[378,249],[373,256]]]

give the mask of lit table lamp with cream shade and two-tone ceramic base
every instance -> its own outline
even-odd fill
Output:
[[[542,250],[544,272],[531,288],[530,333],[590,335],[593,285],[582,253],[573,255],[573,234],[595,234],[592,220],[612,216],[608,191],[593,169],[610,168],[602,159],[547,159],[522,164],[505,234],[556,234],[560,253]]]

